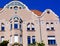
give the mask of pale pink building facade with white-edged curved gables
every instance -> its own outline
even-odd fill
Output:
[[[40,16],[20,1],[11,1],[0,11],[0,42],[9,40],[23,46],[41,42],[45,46],[60,46],[59,17],[46,9]]]

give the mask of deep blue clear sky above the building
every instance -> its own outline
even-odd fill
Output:
[[[7,3],[13,0],[0,0],[0,8],[3,8]],[[29,9],[39,10],[43,12],[46,9],[51,9],[60,16],[60,0],[18,0],[28,6]]]

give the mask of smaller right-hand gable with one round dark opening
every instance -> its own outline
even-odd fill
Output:
[[[41,20],[59,20],[59,16],[56,15],[52,10],[46,9],[41,15]]]

